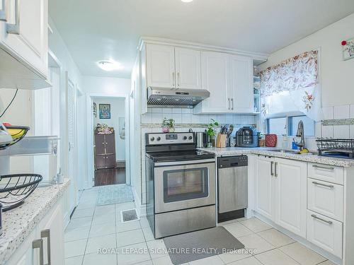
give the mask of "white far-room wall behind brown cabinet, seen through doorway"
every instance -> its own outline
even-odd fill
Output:
[[[93,126],[107,124],[115,129],[115,160],[125,160],[125,140],[119,136],[119,118],[125,118],[125,98],[92,98],[97,104],[97,117],[93,118]],[[110,119],[100,119],[99,105],[110,104]]]

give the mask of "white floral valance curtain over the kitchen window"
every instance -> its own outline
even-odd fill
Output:
[[[321,120],[317,55],[304,52],[260,72],[264,115],[296,110]]]

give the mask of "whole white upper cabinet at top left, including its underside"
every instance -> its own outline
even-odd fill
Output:
[[[5,52],[0,52],[0,59],[8,61],[9,55],[13,57],[14,62],[10,62],[10,66],[6,69],[0,66],[0,79],[2,79],[0,85],[8,88],[13,85],[23,89],[45,86],[45,82],[33,82],[33,80],[47,79],[48,2],[47,0],[8,0],[4,3],[7,6],[0,8],[6,11],[3,11],[6,21],[0,22],[0,49]],[[9,80],[11,77],[22,81],[16,83]]]

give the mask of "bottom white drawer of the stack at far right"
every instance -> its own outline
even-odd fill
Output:
[[[343,223],[313,211],[307,211],[307,240],[342,258]]]

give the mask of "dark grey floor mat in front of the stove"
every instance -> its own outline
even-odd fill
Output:
[[[239,253],[244,245],[224,227],[164,237],[173,264],[184,264],[226,252]]]

